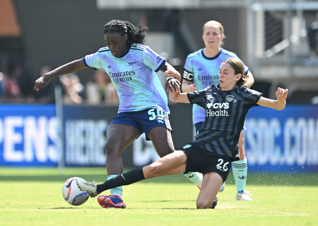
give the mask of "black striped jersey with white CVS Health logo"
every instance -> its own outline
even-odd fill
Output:
[[[218,84],[187,95],[191,104],[205,109],[202,129],[192,143],[215,154],[230,156],[233,161],[239,160],[236,146],[245,115],[252,106],[257,106],[263,94],[244,85],[222,91]]]

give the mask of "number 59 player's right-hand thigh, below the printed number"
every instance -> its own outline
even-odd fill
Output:
[[[171,132],[166,127],[159,126],[151,129],[148,137],[152,141],[152,144],[160,157],[175,151]]]

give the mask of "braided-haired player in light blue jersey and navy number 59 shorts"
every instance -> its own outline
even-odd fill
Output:
[[[137,29],[127,21],[112,20],[104,26],[107,46],[96,53],[62,65],[35,81],[34,90],[45,87],[54,77],[91,67],[103,69],[117,90],[119,109],[107,127],[106,168],[108,180],[123,173],[121,152],[142,133],[151,140],[158,155],[174,152],[172,129],[168,118],[168,98],[156,74],[159,70],[167,77],[180,80],[180,73],[164,58],[142,45],[147,28]],[[198,185],[199,173],[190,173],[190,181]],[[199,184],[200,185],[200,184]],[[126,208],[122,187],[112,188],[100,205],[104,208]],[[98,194],[90,194],[95,197]]]

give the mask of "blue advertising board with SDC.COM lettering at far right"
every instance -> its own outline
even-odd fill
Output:
[[[249,170],[318,170],[318,106],[253,107],[245,127]]]

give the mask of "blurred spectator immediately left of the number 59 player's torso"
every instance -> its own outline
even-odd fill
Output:
[[[92,81],[87,82],[86,101],[88,104],[119,105],[117,92],[104,70],[94,71]]]

